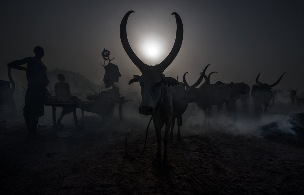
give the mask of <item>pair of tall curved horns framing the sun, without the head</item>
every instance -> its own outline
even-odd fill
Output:
[[[136,54],[133,52],[128,38],[127,38],[127,31],[126,31],[126,26],[127,26],[127,21],[131,13],[134,11],[129,11],[126,13],[126,15],[123,17],[120,23],[120,40],[121,43],[123,44],[123,48],[125,49],[127,55],[130,57],[132,62],[136,65],[136,67],[143,72],[146,64],[141,61]],[[177,56],[180,48],[181,48],[181,43],[183,41],[183,35],[184,35],[184,28],[183,28],[183,23],[181,21],[181,17],[176,13],[173,12],[172,15],[174,14],[175,19],[176,19],[176,37],[175,37],[175,42],[173,45],[173,48],[169,55],[162,61],[160,64],[157,64],[157,69],[160,73],[164,72],[164,70],[172,63],[174,58]]]

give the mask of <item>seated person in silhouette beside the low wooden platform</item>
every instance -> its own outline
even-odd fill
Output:
[[[57,82],[54,86],[55,90],[55,96],[60,100],[60,102],[65,102],[71,99],[71,91],[70,91],[70,85],[65,81],[65,77],[63,74],[58,74],[57,78],[59,82]],[[60,118],[57,121],[57,124],[61,124],[61,120],[64,117],[64,115],[71,113],[73,110],[71,107],[66,106],[63,107],[63,110],[61,112]]]

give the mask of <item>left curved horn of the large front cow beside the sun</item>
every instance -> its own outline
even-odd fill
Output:
[[[123,16],[123,19],[121,20],[120,23],[120,40],[121,43],[123,44],[123,48],[125,49],[127,55],[130,57],[132,62],[137,66],[137,68],[142,72],[145,64],[136,56],[136,54],[133,52],[128,38],[127,38],[127,21],[131,13],[134,11],[129,11],[126,13],[125,16]]]

